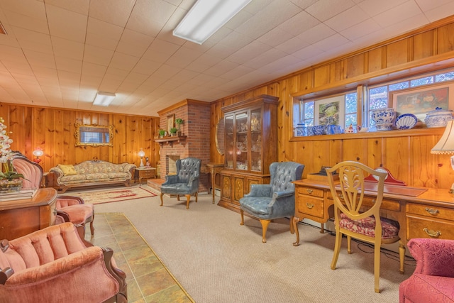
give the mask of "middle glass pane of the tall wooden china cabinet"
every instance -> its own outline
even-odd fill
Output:
[[[236,170],[248,170],[248,111],[235,114],[236,126]]]

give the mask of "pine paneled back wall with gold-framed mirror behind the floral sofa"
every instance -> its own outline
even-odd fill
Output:
[[[40,165],[47,172],[57,164],[77,164],[85,160],[106,160],[114,163],[140,164],[137,153],[140,148],[155,167],[159,160],[159,146],[153,141],[159,129],[159,118],[128,116],[96,111],[0,104],[0,117],[5,119],[7,131],[13,133],[12,150],[18,150],[33,159],[33,149],[43,148]],[[115,127],[113,147],[79,146],[74,138],[74,123],[97,124]],[[145,159],[144,159],[145,162]]]

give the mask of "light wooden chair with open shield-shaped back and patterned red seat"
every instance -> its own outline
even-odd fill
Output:
[[[333,173],[338,171],[339,182],[334,182]],[[384,179],[387,172],[373,170],[360,162],[344,161],[326,170],[331,195],[334,199],[334,224],[336,243],[331,269],[336,269],[342,236],[347,236],[348,253],[351,253],[351,238],[374,245],[375,292],[380,292],[380,246],[395,243],[399,238],[399,223],[380,217]],[[365,177],[372,175],[377,180],[377,196],[370,209],[364,209]],[[405,246],[399,246],[400,271],[404,273]]]

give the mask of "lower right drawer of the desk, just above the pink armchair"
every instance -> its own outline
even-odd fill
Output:
[[[423,216],[406,216],[407,238],[454,239],[454,222]]]

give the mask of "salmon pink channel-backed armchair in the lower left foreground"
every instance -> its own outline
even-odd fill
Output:
[[[74,224],[0,242],[0,303],[128,302],[110,248],[89,246]]]

